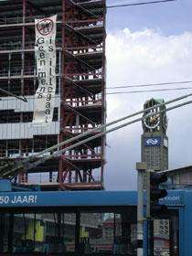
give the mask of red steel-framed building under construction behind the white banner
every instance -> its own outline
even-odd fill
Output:
[[[105,14],[105,0],[0,1],[1,165],[27,159],[105,123]],[[35,19],[55,15],[53,119],[34,126]],[[99,137],[59,156],[54,156],[58,149],[49,151],[41,157],[52,158],[16,174],[16,182],[39,183],[43,189],[102,189],[104,146],[105,137]]]

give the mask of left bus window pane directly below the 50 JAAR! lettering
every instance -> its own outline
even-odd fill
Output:
[[[75,251],[75,213],[0,215],[0,252]]]

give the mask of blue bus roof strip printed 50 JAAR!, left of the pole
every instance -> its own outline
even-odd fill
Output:
[[[0,193],[1,207],[132,206],[135,191],[66,191]]]

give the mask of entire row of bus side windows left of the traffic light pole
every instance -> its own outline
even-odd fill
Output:
[[[73,209],[0,214],[0,252],[136,255],[136,208]]]

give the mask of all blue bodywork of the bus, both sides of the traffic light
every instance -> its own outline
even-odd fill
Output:
[[[145,201],[145,194],[144,194]],[[170,208],[179,208],[179,255],[190,256],[192,251],[192,191],[169,190],[161,200]],[[56,191],[1,192],[0,208],[5,207],[83,207],[136,206],[136,191]],[[144,226],[146,231],[146,226]],[[145,232],[144,232],[145,233]],[[146,239],[146,237],[144,237]],[[146,241],[144,241],[146,249]]]

